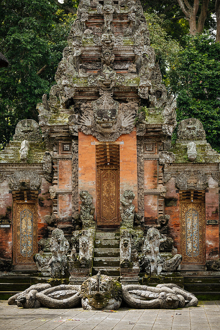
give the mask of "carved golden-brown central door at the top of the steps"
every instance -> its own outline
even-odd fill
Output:
[[[120,224],[118,167],[97,167],[97,224]]]

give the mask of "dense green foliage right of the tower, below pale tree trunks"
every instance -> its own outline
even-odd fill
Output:
[[[177,97],[177,120],[198,118],[212,148],[220,150],[220,44],[208,35],[186,36],[170,72]]]

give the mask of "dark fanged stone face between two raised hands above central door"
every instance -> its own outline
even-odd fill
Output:
[[[95,123],[100,132],[113,132],[117,125],[117,111],[99,110],[95,116]]]

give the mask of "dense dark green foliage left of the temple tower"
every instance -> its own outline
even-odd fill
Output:
[[[19,120],[37,119],[36,104],[54,84],[74,16],[45,0],[3,0],[0,52],[10,62],[0,69],[0,147]]]

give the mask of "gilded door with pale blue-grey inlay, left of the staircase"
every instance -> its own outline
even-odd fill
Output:
[[[37,204],[14,202],[13,264],[35,265],[37,252]]]

